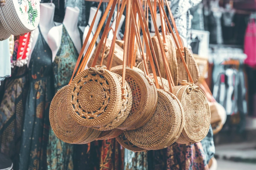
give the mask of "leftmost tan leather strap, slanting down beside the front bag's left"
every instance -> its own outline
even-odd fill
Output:
[[[83,56],[83,53],[84,53],[84,49],[85,49],[85,47],[86,47],[86,44],[87,44],[87,42],[88,42],[88,40],[89,40],[89,37],[90,37],[90,35],[91,35],[91,32],[92,32],[92,30],[93,30],[94,22],[95,22],[95,20],[96,20],[96,17],[97,17],[97,14],[98,14],[98,11],[99,11],[99,8],[100,8],[101,3],[102,3],[102,0],[100,0],[99,6],[98,6],[97,11],[96,11],[96,13],[95,13],[95,15],[94,15],[92,24],[91,24],[91,26],[90,26],[90,28],[89,28],[89,30],[88,30],[88,33],[87,33],[87,35],[86,35],[86,38],[85,38],[84,43],[83,43],[83,46],[82,46],[82,49],[81,49],[81,51],[80,51],[80,53],[79,53],[79,56],[78,56],[78,59],[77,59],[77,63],[76,63],[75,69],[74,69],[74,71],[73,71],[72,77],[71,77],[71,79],[70,79],[70,81],[69,81],[68,84],[71,83],[71,81],[72,81],[72,79],[73,79],[73,77],[74,77],[74,75],[75,75],[75,73],[76,73],[76,71],[77,71],[77,67],[78,67],[78,65],[79,65],[79,63],[80,63],[80,61],[81,61],[81,59],[82,59],[82,56]]]

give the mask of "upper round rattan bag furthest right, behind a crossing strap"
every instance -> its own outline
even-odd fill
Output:
[[[188,66],[188,70],[194,80],[194,83],[196,83],[200,77],[198,66],[190,50],[186,47],[184,47],[184,49],[185,49],[185,58],[184,58],[185,62]],[[189,79],[187,76],[188,74],[186,72],[185,66],[183,65],[182,60],[180,58],[178,49],[176,50],[176,56],[177,56],[177,63],[178,63],[178,73],[179,73],[178,77],[179,77],[179,85],[180,85],[183,80],[188,81]]]

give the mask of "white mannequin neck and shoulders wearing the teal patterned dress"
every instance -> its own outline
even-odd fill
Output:
[[[70,38],[72,39],[78,53],[80,52],[82,45],[79,28],[77,26],[78,15],[78,7],[66,7],[63,23],[50,29],[47,39],[49,47],[52,50],[52,61],[54,61],[55,56],[60,48],[63,25],[65,26]]]

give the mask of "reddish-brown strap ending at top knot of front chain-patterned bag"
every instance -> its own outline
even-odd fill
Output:
[[[109,18],[108,18],[107,23],[106,23],[106,26],[105,26],[105,28],[107,28],[107,29],[104,29],[103,34],[102,34],[102,37],[107,36],[107,33],[108,33],[108,31],[109,31],[108,28],[109,28],[109,26],[110,26],[111,18],[112,18],[112,16],[113,16],[116,3],[117,3],[117,0],[114,0],[114,2],[113,2],[113,4],[112,4],[112,7],[111,7],[111,10],[110,10]],[[99,42],[99,45],[98,45],[99,48],[97,49],[96,54],[95,54],[95,56],[94,56],[94,60],[93,60],[92,67],[95,67],[95,65],[96,65],[96,62],[97,62],[97,60],[98,60],[99,53],[100,53],[100,49],[101,49],[101,47],[102,47],[103,42],[104,42],[104,38],[101,38],[101,40],[100,40],[100,42]]]

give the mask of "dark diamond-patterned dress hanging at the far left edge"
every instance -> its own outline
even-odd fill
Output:
[[[27,66],[14,66],[11,77],[2,85],[4,95],[0,105],[0,152],[12,160],[13,170],[18,170],[28,87]]]

